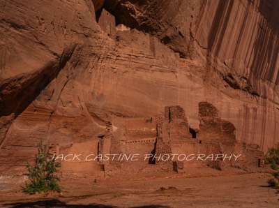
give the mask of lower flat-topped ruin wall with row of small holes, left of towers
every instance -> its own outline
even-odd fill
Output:
[[[107,126],[107,134],[100,140],[98,154],[119,154],[131,156],[137,154],[136,161],[112,160],[100,161],[105,174],[133,174],[147,171],[149,160],[144,161],[145,154],[154,151],[156,143],[156,120],[153,118],[125,118],[112,115],[112,122]],[[131,158],[131,157],[130,157]]]

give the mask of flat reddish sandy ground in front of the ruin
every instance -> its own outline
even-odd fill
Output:
[[[201,173],[202,172],[202,173]],[[279,207],[269,173],[189,170],[106,179],[63,179],[61,193],[0,191],[0,207]]]

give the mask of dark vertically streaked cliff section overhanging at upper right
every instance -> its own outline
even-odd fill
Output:
[[[225,64],[224,80],[235,89],[278,103],[277,1],[204,2],[194,38],[208,57]],[[215,14],[215,15],[212,15]],[[206,20],[206,21],[204,21]]]

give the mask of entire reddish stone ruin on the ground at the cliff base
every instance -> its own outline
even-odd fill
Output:
[[[199,103],[199,129],[190,128],[182,107],[165,107],[164,117],[126,118],[112,116],[107,133],[98,142],[98,154],[138,154],[136,161],[98,161],[105,174],[154,172],[160,170],[186,172],[188,168],[210,167],[225,170],[228,167],[247,170],[262,165],[264,154],[258,145],[236,140],[232,123],[218,116],[216,107],[207,102]],[[215,159],[180,160],[178,156],[220,155]],[[226,155],[223,160],[221,155]],[[229,160],[229,156],[239,156]],[[144,158],[146,155],[156,157]],[[163,161],[162,155],[172,155]],[[232,158],[232,156],[231,156]]]

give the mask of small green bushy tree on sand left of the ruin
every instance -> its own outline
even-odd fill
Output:
[[[41,193],[46,191],[61,191],[59,186],[59,177],[56,176],[58,168],[61,168],[61,163],[58,163],[50,154],[51,147],[43,145],[40,141],[38,144],[38,155],[31,165],[27,162],[28,178],[30,183],[25,183],[24,192],[26,193]]]

